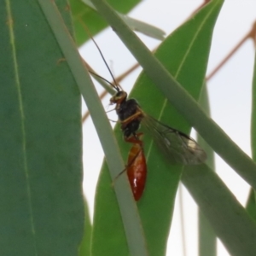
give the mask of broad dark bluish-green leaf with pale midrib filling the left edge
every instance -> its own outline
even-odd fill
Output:
[[[2,1],[0,20],[1,255],[76,255],[84,227],[79,90],[37,1]]]

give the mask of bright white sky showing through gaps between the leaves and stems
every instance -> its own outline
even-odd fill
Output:
[[[201,5],[202,0],[147,0],[134,9],[130,16],[143,20],[163,29],[166,34],[181,25],[189,15]],[[226,0],[215,26],[208,73],[218,65],[231,49],[251,29],[256,20],[255,0]],[[159,44],[159,41],[140,36],[149,49]],[[111,29],[106,29],[96,36],[96,42],[113,69],[115,76],[123,73],[136,61],[119,38]],[[95,45],[86,44],[81,48],[81,55],[90,63],[97,73],[109,79],[107,68],[101,61]],[[247,153],[250,155],[250,115],[251,115],[251,84],[253,76],[254,46],[249,40],[233,55],[231,60],[208,83],[212,119]],[[102,63],[101,67],[99,63]],[[131,89],[139,70],[122,83],[126,91]],[[111,79],[109,79],[111,80]],[[109,97],[103,102],[108,107]],[[86,107],[83,107],[83,113]],[[110,119],[117,119],[112,113]],[[95,154],[96,153],[96,154]],[[95,186],[103,158],[101,144],[91,120],[84,124],[84,193],[90,204],[90,214],[93,212]],[[248,186],[241,177],[236,175],[229,166],[217,159],[218,175],[236,195],[238,201],[245,205]],[[177,195],[178,197],[179,195]],[[197,255],[197,221],[196,207],[190,195],[183,188],[183,208],[185,214],[186,230],[186,256]],[[179,200],[172,220],[172,230],[166,255],[183,256]],[[187,209],[187,211],[186,211]],[[193,213],[193,214],[192,214]],[[224,247],[218,243],[218,255],[227,256]]]

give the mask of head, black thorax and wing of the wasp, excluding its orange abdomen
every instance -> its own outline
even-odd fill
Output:
[[[194,139],[144,113],[135,99],[127,100],[124,90],[120,90],[116,85],[113,88],[117,92],[111,97],[110,104],[115,104],[126,142],[129,142],[131,137],[139,141],[137,131],[140,125],[145,125],[154,142],[173,164],[197,165],[207,160],[207,154]]]

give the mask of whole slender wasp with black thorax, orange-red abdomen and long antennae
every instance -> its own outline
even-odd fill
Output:
[[[96,44],[92,37],[91,39]],[[102,55],[102,51],[97,44],[96,47]],[[108,67],[108,63],[103,55],[102,60]],[[113,78],[113,73],[109,67],[108,71]],[[95,73],[92,74],[98,76]],[[101,76],[98,77],[103,79]],[[103,80],[108,82],[106,79]],[[147,177],[143,141],[140,138],[143,136],[143,133],[138,132],[140,125],[147,127],[148,132],[154,138],[154,142],[166,154],[167,159],[172,164],[198,165],[207,160],[207,154],[194,139],[182,131],[177,131],[144,113],[135,99],[127,99],[127,93],[119,87],[114,78],[113,83],[108,82],[116,90],[115,95],[110,98],[110,105],[115,105],[114,109],[118,115],[125,142],[133,144],[128,155],[127,166],[123,172],[127,172],[131,190],[136,201],[143,195]],[[123,172],[120,172],[119,175]]]

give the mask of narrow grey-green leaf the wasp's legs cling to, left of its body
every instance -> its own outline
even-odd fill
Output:
[[[119,170],[124,166],[121,156],[118,152],[117,143],[113,137],[113,132],[106,113],[102,108],[102,103],[96,93],[96,89],[91,82],[90,75],[84,70],[84,62],[82,61],[79,51],[76,48],[73,39],[67,32],[67,28],[61,19],[61,15],[56,9],[55,2],[38,0],[44,14],[47,17],[49,26],[55,34],[55,38],[60,44],[61,50],[66,57],[66,61],[73,73],[79,90],[84,97],[84,101],[90,110],[91,118],[93,119],[99,139],[102,143],[102,148],[108,161],[112,179],[117,176]],[[102,129],[104,127],[104,129]],[[111,150],[109,150],[111,148]],[[135,230],[137,236],[130,237],[131,253],[133,255],[146,255],[145,247],[143,246],[143,230],[139,225],[139,216],[137,214],[136,204],[132,199],[131,189],[128,187],[127,179],[120,177],[114,183],[117,199],[119,201],[119,210],[122,214],[125,229],[127,233]],[[128,202],[128,204],[127,204]],[[132,223],[131,223],[132,218]]]

